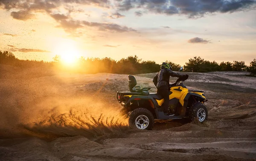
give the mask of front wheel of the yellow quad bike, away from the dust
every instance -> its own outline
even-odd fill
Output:
[[[206,121],[208,118],[208,110],[207,107],[201,103],[196,102],[192,104],[190,110],[189,110],[189,120],[193,121],[197,119],[200,122]]]

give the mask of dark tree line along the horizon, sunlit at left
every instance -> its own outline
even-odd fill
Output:
[[[180,64],[173,63],[166,60],[172,66],[173,71],[178,71]],[[7,64],[18,66],[20,68],[55,68],[64,71],[78,72],[78,73],[117,73],[117,74],[143,74],[153,73],[160,70],[160,64],[155,61],[143,61],[137,55],[122,58],[119,61],[111,58],[79,58],[76,63],[76,68],[70,68],[61,63],[61,57],[56,55],[52,62],[44,62],[37,60],[19,60],[12,52],[0,51],[0,64]],[[217,72],[217,71],[248,71],[252,75],[256,74],[256,59],[246,66],[244,61],[233,61],[217,63],[215,61],[204,60],[201,57],[190,58],[183,66],[185,72]]]

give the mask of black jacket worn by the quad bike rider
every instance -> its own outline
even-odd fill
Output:
[[[176,72],[172,72],[172,70],[170,69],[166,69],[166,68],[161,69],[160,72],[157,74],[157,76],[153,80],[153,82],[157,86],[157,89],[169,89],[170,76],[182,78],[184,75]],[[157,82],[156,82],[156,78],[157,78]]]

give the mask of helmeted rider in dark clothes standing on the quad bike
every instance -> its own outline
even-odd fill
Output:
[[[162,105],[163,112],[165,115],[169,115],[168,106],[169,106],[169,81],[170,76],[183,78],[186,75],[182,75],[176,72],[172,72],[172,66],[169,63],[162,63],[161,70],[153,79],[154,84],[157,86],[157,93],[159,93],[164,98],[164,103]]]

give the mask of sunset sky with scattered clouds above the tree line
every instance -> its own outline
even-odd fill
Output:
[[[256,0],[0,0],[0,50],[114,60],[256,58]]]

